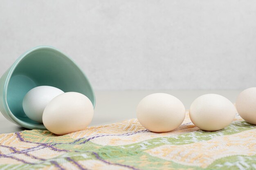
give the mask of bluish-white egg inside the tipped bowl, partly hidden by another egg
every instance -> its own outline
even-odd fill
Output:
[[[64,92],[52,86],[32,88],[24,97],[22,106],[29,119],[43,123],[42,116],[46,105],[56,96]]]

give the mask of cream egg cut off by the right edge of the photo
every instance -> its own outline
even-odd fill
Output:
[[[236,110],[245,121],[256,125],[256,87],[247,88],[238,95]]]

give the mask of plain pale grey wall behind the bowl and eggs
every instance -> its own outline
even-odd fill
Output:
[[[70,55],[95,90],[256,86],[255,0],[0,0],[0,75],[23,52]]]

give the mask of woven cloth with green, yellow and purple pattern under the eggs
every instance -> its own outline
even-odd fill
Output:
[[[1,170],[255,170],[256,126],[239,115],[216,132],[195,127],[188,113],[166,133],[137,119],[57,136],[25,130],[0,135]]]

